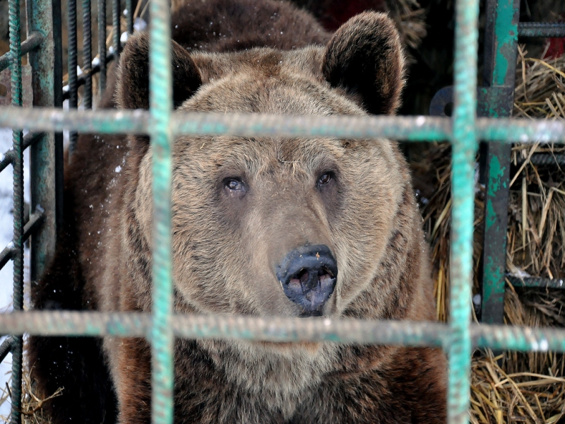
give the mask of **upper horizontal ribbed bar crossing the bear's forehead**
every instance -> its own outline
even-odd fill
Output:
[[[146,110],[76,111],[55,108],[0,107],[0,127],[35,131],[148,134]],[[174,112],[172,130],[187,135],[335,136],[344,139],[390,138],[403,141],[449,140],[451,120],[443,117],[332,116],[297,117],[268,114]],[[565,122],[532,119],[477,119],[484,141],[542,143],[565,141]]]

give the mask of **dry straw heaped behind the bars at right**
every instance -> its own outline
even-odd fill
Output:
[[[565,57],[534,59],[521,49],[516,72],[515,117],[565,119]],[[506,267],[513,276],[565,278],[564,157],[565,147],[558,145],[535,143],[512,150]],[[445,321],[451,148],[435,144],[423,160],[411,165],[431,244],[437,317]],[[473,305],[478,311],[484,186],[476,184],[475,193]],[[506,283],[506,324],[565,327],[565,290],[513,288]],[[565,355],[506,352],[494,357],[491,352],[477,351],[472,361],[470,420],[496,424],[565,423]]]

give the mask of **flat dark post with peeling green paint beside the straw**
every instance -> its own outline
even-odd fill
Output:
[[[487,116],[509,117],[513,107],[518,43],[519,0],[488,0],[484,83],[489,86]],[[506,87],[508,90],[492,88]],[[504,98],[494,98],[503,93]],[[504,93],[507,93],[504,95]],[[501,97],[499,94],[497,97]],[[504,322],[504,270],[511,145],[488,143],[482,252],[482,322]]]

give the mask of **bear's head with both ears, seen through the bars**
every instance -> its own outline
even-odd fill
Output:
[[[178,110],[393,114],[404,61],[392,21],[367,12],[326,46],[189,54],[172,42],[172,73]],[[146,109],[148,99],[148,37],[138,35],[121,57],[117,102]],[[148,282],[152,148],[147,137],[129,143],[123,243],[131,257],[147,259],[129,266],[133,278]],[[177,309],[402,317],[390,311],[403,302],[398,276],[409,267],[403,249],[415,211],[391,141],[179,136],[172,183]]]

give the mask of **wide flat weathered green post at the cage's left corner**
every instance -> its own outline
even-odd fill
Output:
[[[28,0],[28,34],[41,33],[40,49],[29,54],[33,105],[62,107],[63,57],[61,1]],[[63,136],[41,134],[30,146],[31,210],[41,208],[44,221],[31,237],[30,278],[37,280],[55,251],[57,228],[63,218]]]

